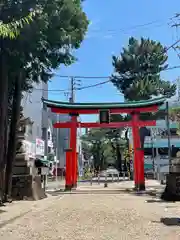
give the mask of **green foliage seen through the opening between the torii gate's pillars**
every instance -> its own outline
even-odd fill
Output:
[[[112,115],[111,121],[119,122],[124,118],[121,115]],[[122,170],[121,151],[125,140],[121,138],[123,128],[120,129],[91,129],[82,136],[83,154],[85,158],[93,157],[93,166],[96,170],[105,169],[113,165]]]

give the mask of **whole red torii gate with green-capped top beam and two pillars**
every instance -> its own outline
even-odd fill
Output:
[[[165,102],[165,98],[155,98],[147,101],[134,101],[127,103],[69,103],[43,99],[44,104],[51,108],[53,113],[69,114],[71,121],[58,122],[55,128],[70,128],[70,146],[66,151],[66,189],[77,186],[77,155],[76,141],[77,128],[119,128],[132,127],[134,148],[134,183],[135,189],[145,189],[144,178],[144,150],[141,148],[139,127],[155,126],[156,121],[141,121],[140,113],[156,112],[158,107]],[[131,115],[127,122],[95,123],[78,122],[80,114],[98,114],[100,110],[109,110],[110,114],[126,113]]]

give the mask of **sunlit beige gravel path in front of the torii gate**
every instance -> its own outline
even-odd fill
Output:
[[[0,239],[179,240],[180,225],[172,218],[180,216],[180,204],[146,201],[150,199],[122,193],[66,194],[36,205],[27,202],[28,213],[0,224]]]

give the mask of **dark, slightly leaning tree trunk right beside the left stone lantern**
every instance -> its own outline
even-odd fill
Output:
[[[7,164],[6,164],[6,186],[5,186],[6,199],[11,198],[12,170],[13,170],[14,159],[16,157],[17,127],[18,127],[19,117],[20,117],[21,89],[22,89],[22,73],[20,72],[19,76],[15,80],[12,117],[11,117],[9,141],[8,141]]]

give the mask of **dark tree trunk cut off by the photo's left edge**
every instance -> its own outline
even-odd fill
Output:
[[[2,43],[2,42],[1,42]],[[3,44],[2,44],[3,45]],[[1,46],[2,47],[2,46]],[[3,48],[2,48],[3,49]],[[3,201],[3,185],[4,185],[4,126],[6,124],[6,116],[8,111],[8,69],[5,53],[2,51],[0,55],[0,204]]]

